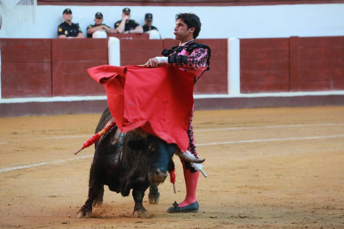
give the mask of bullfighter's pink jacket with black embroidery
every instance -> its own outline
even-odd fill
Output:
[[[194,83],[205,70],[209,70],[210,48],[201,43],[191,41],[181,46],[173,46],[161,53],[168,57],[170,66],[180,67],[181,70],[195,73]]]

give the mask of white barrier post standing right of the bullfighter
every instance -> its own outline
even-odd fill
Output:
[[[228,94],[240,94],[240,40],[229,38],[227,42],[227,87]]]

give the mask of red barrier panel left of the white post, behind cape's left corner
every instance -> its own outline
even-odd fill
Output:
[[[52,39],[52,95],[104,95],[87,68],[108,64],[108,39]]]

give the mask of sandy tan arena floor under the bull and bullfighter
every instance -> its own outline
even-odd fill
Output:
[[[158,205],[145,196],[149,218],[106,187],[103,207],[79,219],[94,147],[73,152],[99,117],[0,118],[0,228],[344,228],[344,107],[198,111],[200,212],[166,212],[185,193],[174,158],[179,192],[166,181]]]

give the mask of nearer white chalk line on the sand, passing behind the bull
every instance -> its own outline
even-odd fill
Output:
[[[302,138],[272,138],[272,139],[244,140],[244,141],[225,141],[225,142],[212,142],[212,143],[196,144],[196,146],[224,145],[224,144],[235,144],[235,143],[262,142],[262,141],[285,141],[285,140],[307,140],[307,139],[322,139],[322,138],[341,138],[341,137],[344,137],[344,135],[314,136],[314,137],[302,137]],[[93,157],[93,155],[75,157],[72,159],[76,160],[76,159],[91,158],[91,157]],[[38,167],[38,166],[47,165],[47,164],[63,163],[63,162],[66,162],[67,160],[70,160],[70,159],[63,159],[63,160],[57,160],[57,161],[42,162],[42,163],[36,163],[36,164],[28,164],[28,165],[23,165],[23,166],[4,168],[4,169],[0,169],[0,173],[12,171],[12,170],[18,170],[18,169]]]

